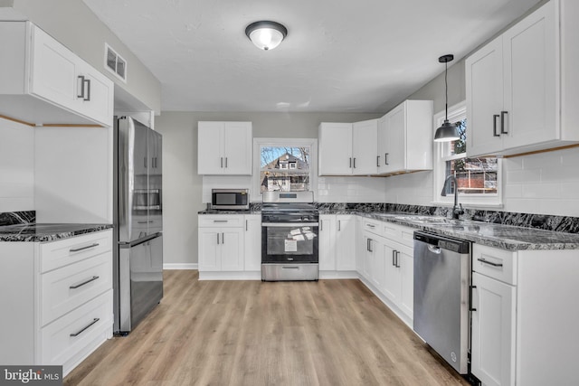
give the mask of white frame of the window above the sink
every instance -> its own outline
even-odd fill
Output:
[[[466,101],[457,103],[449,108],[448,119],[451,122],[456,122],[462,118],[467,117]],[[433,117],[433,130],[440,127],[445,119],[445,111],[441,111]],[[469,122],[467,121],[467,138],[468,138]],[[433,162],[432,162],[432,204],[440,206],[451,206],[454,203],[454,195],[441,196],[442,186],[446,179],[446,162],[452,159],[460,159],[460,155],[445,155],[448,152],[450,142],[434,142],[433,143]],[[469,147],[467,141],[466,157],[469,155]],[[487,208],[502,208],[503,184],[502,184],[502,159],[497,157],[497,193],[487,194],[464,194],[459,193],[459,202],[464,206],[470,207],[487,207]]]

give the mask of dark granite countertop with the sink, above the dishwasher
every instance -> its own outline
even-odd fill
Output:
[[[576,233],[543,231],[483,221],[451,220],[441,216],[412,213],[356,212],[352,214],[394,222],[417,230],[432,231],[499,249],[579,249],[579,234]]]

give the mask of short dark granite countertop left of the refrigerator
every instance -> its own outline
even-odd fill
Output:
[[[30,223],[0,226],[0,241],[53,241],[112,228],[111,224]]]

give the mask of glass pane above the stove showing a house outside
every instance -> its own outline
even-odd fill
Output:
[[[261,192],[309,190],[309,146],[261,146]]]

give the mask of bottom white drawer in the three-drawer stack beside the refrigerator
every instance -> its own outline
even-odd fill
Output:
[[[40,361],[43,364],[71,365],[112,335],[112,290],[56,319],[40,330]],[[72,336],[74,335],[74,336]],[[75,358],[76,356],[76,358]]]

